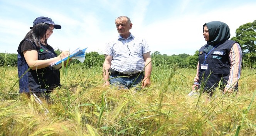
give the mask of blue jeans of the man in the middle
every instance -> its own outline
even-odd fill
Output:
[[[129,89],[131,87],[138,86],[144,78],[144,74],[141,73],[138,76],[125,77],[118,74],[110,74],[109,83],[117,86],[119,89]]]

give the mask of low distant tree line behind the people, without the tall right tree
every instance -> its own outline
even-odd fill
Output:
[[[56,50],[57,55],[61,52]],[[86,53],[84,63],[74,59],[71,60],[71,64],[76,64],[82,68],[92,68],[93,66],[103,65],[105,56],[99,54],[96,51]],[[195,68],[198,60],[198,51],[195,51],[195,55],[179,54],[168,56],[166,54],[160,54],[159,51],[152,53],[152,64],[154,66],[167,66],[172,67],[173,65],[179,67]],[[0,53],[0,66],[17,66],[17,54]]]

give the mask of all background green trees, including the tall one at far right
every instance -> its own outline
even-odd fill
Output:
[[[240,43],[243,51],[243,67],[256,68],[256,20],[252,23],[246,23],[236,29],[236,36],[231,40]],[[61,52],[56,50],[59,55]],[[194,55],[179,54],[166,55],[159,51],[151,53],[153,66],[179,66],[182,68],[196,68],[198,61],[198,50]],[[92,68],[93,66],[102,65],[104,62],[104,55],[96,51],[86,53],[84,63],[80,63],[76,59],[71,61],[71,64],[76,64],[82,68]],[[15,53],[0,53],[0,66],[17,66],[17,54]]]

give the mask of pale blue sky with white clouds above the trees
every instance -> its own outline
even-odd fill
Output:
[[[52,18],[49,45],[61,50],[88,47],[102,53],[118,36],[115,19],[128,16],[130,32],[145,38],[153,52],[193,55],[206,41],[204,23],[222,21],[231,37],[239,26],[256,20],[256,0],[0,0],[0,52],[17,53],[35,18]]]

